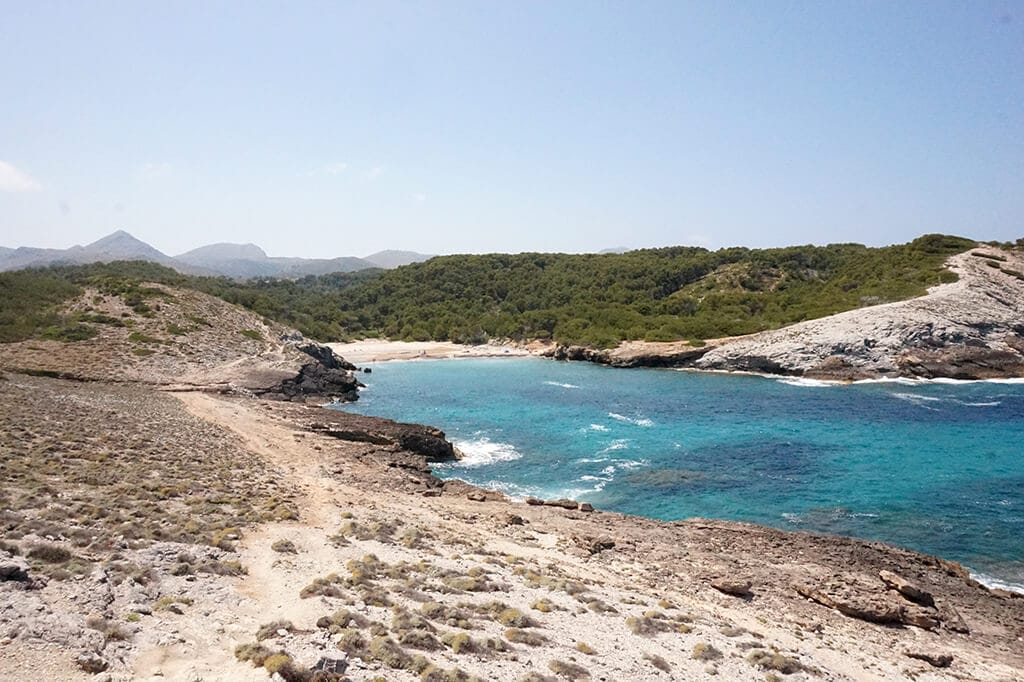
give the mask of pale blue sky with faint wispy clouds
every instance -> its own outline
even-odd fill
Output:
[[[1024,4],[0,0],[0,246],[1024,237]]]

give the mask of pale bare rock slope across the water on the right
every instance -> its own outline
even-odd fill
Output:
[[[1024,376],[1024,279],[1015,274],[1024,273],[1024,254],[981,247],[948,266],[959,281],[920,298],[753,334],[695,366],[846,378]]]

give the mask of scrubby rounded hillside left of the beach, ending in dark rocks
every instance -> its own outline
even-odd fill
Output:
[[[0,276],[0,369],[79,381],[354,399],[354,369],[221,299],[126,276]]]

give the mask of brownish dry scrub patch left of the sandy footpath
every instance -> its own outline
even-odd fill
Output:
[[[227,545],[228,529],[297,511],[261,460],[144,388],[0,382],[0,451],[9,540],[62,536],[92,553],[122,541]],[[63,563],[67,551],[41,549],[38,559]]]

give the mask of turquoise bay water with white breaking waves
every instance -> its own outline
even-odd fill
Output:
[[[823,385],[495,358],[382,363],[367,415],[515,497],[883,540],[1024,586],[1024,383]]]

